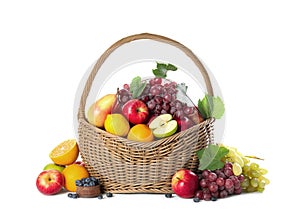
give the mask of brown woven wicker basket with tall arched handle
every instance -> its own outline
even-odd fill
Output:
[[[182,44],[154,34],[138,34],[119,40],[95,63],[83,90],[78,112],[79,150],[91,176],[100,180],[103,192],[172,193],[171,178],[181,169],[197,170],[196,151],[213,142],[214,119],[170,137],[149,143],[129,141],[91,125],[85,106],[93,80],[103,62],[123,44],[150,39],[177,47],[201,71],[207,92],[213,95],[207,71],[199,59]]]

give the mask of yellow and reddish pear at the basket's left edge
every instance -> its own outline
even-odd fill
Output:
[[[107,94],[94,102],[88,109],[87,120],[99,128],[104,127],[106,116],[111,113],[117,100],[116,94]]]

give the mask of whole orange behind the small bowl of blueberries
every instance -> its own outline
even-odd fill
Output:
[[[76,180],[89,177],[90,174],[84,166],[78,164],[72,164],[67,166],[62,174],[65,177],[65,189],[71,192],[76,191]]]

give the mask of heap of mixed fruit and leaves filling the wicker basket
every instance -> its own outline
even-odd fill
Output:
[[[201,123],[210,115],[210,104],[200,100],[195,106],[186,94],[185,83],[166,79],[167,71],[176,70],[172,64],[157,63],[155,77],[137,76],[122,89],[117,88],[116,94],[103,96],[89,107],[87,120],[111,134],[138,142],[169,137]],[[220,103],[214,97],[210,99]]]

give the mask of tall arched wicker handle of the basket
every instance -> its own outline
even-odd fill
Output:
[[[94,78],[95,78],[97,72],[99,71],[101,65],[104,63],[104,61],[109,57],[109,55],[115,49],[117,49],[121,45],[123,45],[125,43],[128,43],[128,42],[131,42],[131,41],[140,40],[140,39],[151,39],[151,40],[167,43],[167,44],[173,45],[173,46],[179,48],[180,50],[182,50],[195,63],[195,65],[200,70],[200,72],[201,72],[201,74],[204,78],[204,81],[205,81],[207,93],[209,95],[213,95],[213,88],[212,88],[211,81],[210,81],[209,75],[207,73],[207,70],[205,69],[205,67],[201,63],[201,61],[198,59],[198,57],[190,49],[188,49],[187,47],[185,47],[181,43],[179,43],[175,40],[172,40],[170,38],[164,37],[164,36],[160,36],[160,35],[156,35],[156,34],[150,34],[150,33],[135,34],[135,35],[125,37],[125,38],[120,39],[119,41],[115,42],[96,61],[95,65],[94,65],[94,67],[93,67],[93,69],[92,69],[92,71],[91,71],[91,73],[90,73],[90,75],[89,75],[89,77],[86,81],[85,87],[84,87],[82,95],[81,95],[80,105],[79,105],[79,112],[78,112],[78,119],[85,117],[85,111],[84,110],[85,110],[85,105],[86,105],[86,99],[87,99],[88,94],[91,90],[91,86],[92,86],[92,83],[94,81]]]

